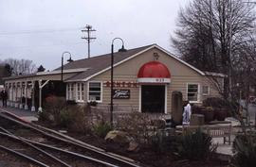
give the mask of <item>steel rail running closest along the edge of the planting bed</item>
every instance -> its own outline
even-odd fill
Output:
[[[2,109],[3,110],[3,109]],[[5,111],[5,110],[4,110]],[[6,111],[5,111],[6,112]],[[9,112],[6,112],[9,114]],[[57,137],[57,136],[54,136],[52,134],[49,134],[49,133],[46,133],[45,131],[43,131],[42,129],[39,129],[39,127],[34,127],[32,124],[29,124],[27,122],[25,122],[24,120],[21,121],[20,118],[16,117],[14,114],[10,114],[12,117],[15,117],[16,119],[13,119],[13,118],[10,118],[9,116],[7,115],[4,115],[3,113],[0,113],[0,117],[3,117],[3,118],[6,118],[8,119],[9,121],[12,121],[16,124],[19,124],[19,125],[24,125],[28,128],[31,128],[31,129],[34,129],[35,131],[38,131],[44,135],[46,135],[47,137],[50,137],[50,138],[53,138],[55,140],[59,140],[59,141],[62,141],[62,142],[68,142],[70,144],[73,144],[73,145],[76,145],[76,146],[79,146],[79,147],[82,147],[83,149],[87,149],[87,150],[90,150],[94,153],[97,153],[97,154],[100,154],[101,156],[104,156],[104,157],[107,157],[109,159],[114,159],[114,160],[117,160],[121,163],[125,163],[126,165],[129,165],[129,166],[133,166],[133,167],[139,167],[139,165],[135,164],[135,163],[132,163],[130,161],[127,161],[125,159],[121,159],[121,158],[118,158],[116,156],[113,156],[105,151],[100,151],[100,150],[95,150],[95,148],[93,147],[90,147],[90,146],[87,146],[87,145],[83,145],[82,143],[78,143],[78,142],[73,142],[73,141],[68,141],[68,140],[65,140],[63,138],[60,138],[60,137]],[[14,115],[14,116],[13,116]],[[19,120],[19,121],[18,121]],[[97,148],[97,147],[96,147]]]

